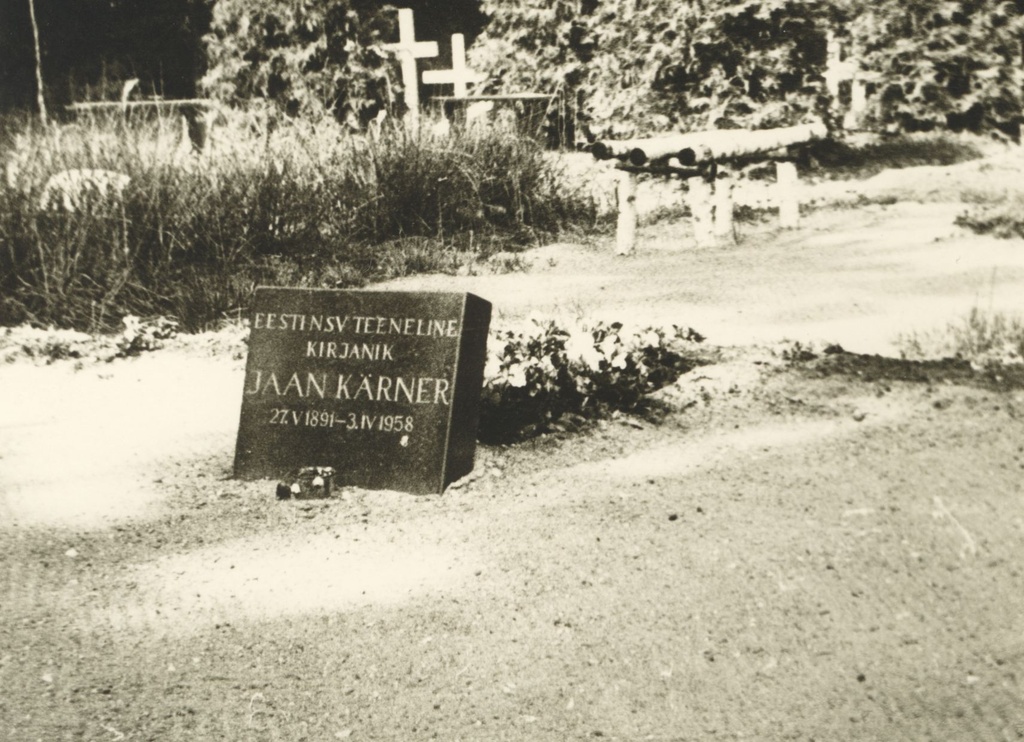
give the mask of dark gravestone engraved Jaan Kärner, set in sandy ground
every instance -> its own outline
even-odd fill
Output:
[[[257,289],[234,475],[443,491],[473,469],[489,322],[472,294]]]

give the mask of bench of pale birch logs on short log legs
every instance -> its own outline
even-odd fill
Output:
[[[620,171],[615,253],[628,255],[635,248],[636,187],[641,173],[687,181],[694,237],[703,247],[731,236],[733,231],[735,182],[722,166],[772,160],[776,173],[773,201],[778,206],[779,224],[796,228],[800,224],[800,200],[797,166],[790,150],[827,135],[827,127],[815,122],[778,129],[724,129],[595,142],[591,147],[594,157],[616,160]]]

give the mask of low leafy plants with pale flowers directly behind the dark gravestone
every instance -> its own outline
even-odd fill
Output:
[[[644,396],[697,365],[689,328],[628,333],[618,322],[571,330],[535,320],[488,346],[479,438],[506,442],[572,418],[636,411]]]

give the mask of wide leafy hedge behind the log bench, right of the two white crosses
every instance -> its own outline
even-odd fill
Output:
[[[502,91],[561,90],[593,135],[827,117],[829,33],[878,76],[880,127],[1021,121],[1024,0],[483,0],[474,63]]]

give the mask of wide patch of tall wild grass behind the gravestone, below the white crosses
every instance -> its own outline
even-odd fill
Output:
[[[173,117],[0,139],[0,324],[95,332],[159,314],[198,330],[244,311],[258,282],[454,270],[593,222],[582,190],[507,131],[225,117],[202,154]]]

